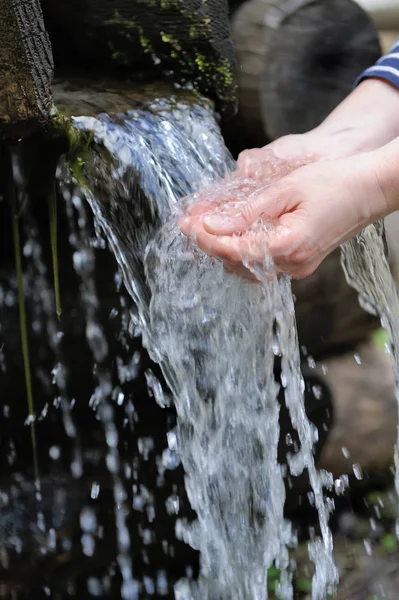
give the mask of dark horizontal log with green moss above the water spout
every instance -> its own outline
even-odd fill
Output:
[[[190,83],[235,110],[226,0],[42,0],[57,69]]]

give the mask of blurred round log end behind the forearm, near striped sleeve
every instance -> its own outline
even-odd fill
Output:
[[[381,54],[371,18],[353,0],[250,0],[232,35],[241,119],[268,140],[320,124]]]

